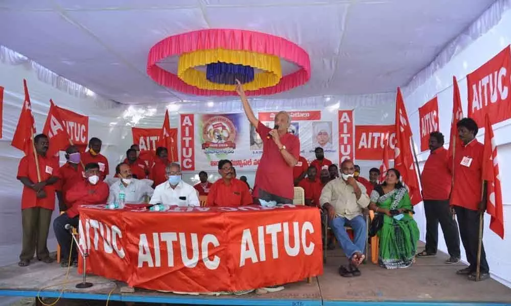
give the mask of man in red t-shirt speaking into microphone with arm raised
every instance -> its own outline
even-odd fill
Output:
[[[300,153],[300,141],[288,133],[291,117],[287,112],[278,112],[274,121],[275,128],[270,129],[255,117],[239,82],[236,91],[241,97],[248,120],[257,126],[256,130],[263,139],[263,156],[255,172],[253,196],[265,201],[276,201],[278,204],[291,204],[294,197],[293,167]]]

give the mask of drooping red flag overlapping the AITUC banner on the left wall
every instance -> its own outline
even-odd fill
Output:
[[[42,133],[47,135],[50,139],[50,147],[47,152],[48,156],[54,156],[58,154],[58,151],[65,150],[69,145],[69,139],[71,139],[69,134],[67,134],[64,123],[62,123],[59,110],[51,99],[50,110],[48,111]]]

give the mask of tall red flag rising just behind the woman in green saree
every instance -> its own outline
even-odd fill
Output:
[[[401,180],[408,187],[412,205],[422,201],[419,179],[413,163],[410,147],[412,131],[406,114],[405,103],[398,87],[396,97],[396,147],[394,148],[394,168],[401,173]]]

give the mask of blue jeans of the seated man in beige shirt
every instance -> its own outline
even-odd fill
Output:
[[[344,228],[346,225],[353,229],[354,241],[348,236],[346,228]],[[367,243],[367,227],[363,216],[356,216],[351,220],[336,217],[330,221],[330,228],[332,228],[335,238],[341,244],[348,259],[352,258],[355,252],[364,253],[365,244]]]

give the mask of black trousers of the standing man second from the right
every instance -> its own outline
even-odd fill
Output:
[[[436,253],[438,250],[438,223],[440,223],[449,255],[460,258],[458,226],[452,218],[449,200],[424,200],[424,211],[426,213],[426,252]]]

